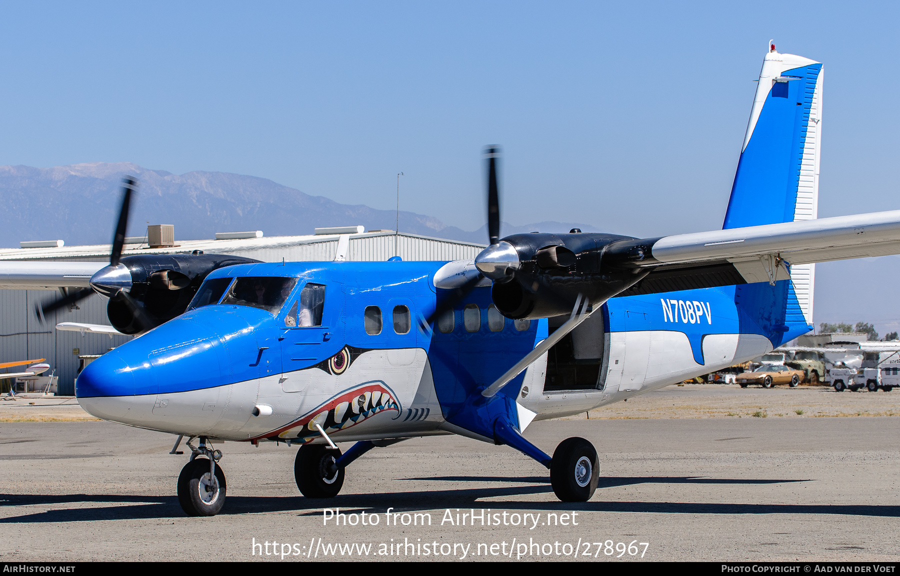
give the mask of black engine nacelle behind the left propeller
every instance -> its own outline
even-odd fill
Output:
[[[130,297],[143,308],[151,326],[141,326],[129,303],[112,296],[106,315],[112,326],[124,334],[136,334],[154,328],[184,313],[197,288],[212,271],[234,264],[258,260],[225,254],[140,254],[125,256],[123,264],[131,276]]]

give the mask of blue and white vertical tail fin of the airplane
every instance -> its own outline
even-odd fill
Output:
[[[822,64],[779,54],[762,62],[723,228],[809,220],[818,215]],[[815,264],[791,267],[806,323],[813,321]]]

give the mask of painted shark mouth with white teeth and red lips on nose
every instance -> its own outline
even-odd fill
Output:
[[[337,432],[356,426],[386,410],[397,412],[398,415],[401,413],[396,396],[383,384],[369,383],[332,398],[300,420],[264,436],[296,439],[305,444],[320,436],[316,424],[319,424],[326,433]]]

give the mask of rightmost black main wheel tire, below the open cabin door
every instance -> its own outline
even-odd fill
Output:
[[[567,438],[560,442],[550,461],[550,483],[563,502],[586,502],[597,490],[600,461],[597,450],[586,439]]]

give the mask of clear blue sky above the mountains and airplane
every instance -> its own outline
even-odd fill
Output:
[[[0,164],[244,173],[374,208],[404,172],[401,208],[475,229],[500,144],[509,222],[714,229],[774,38],[824,62],[820,216],[900,208],[900,8],[811,5],[4,3]],[[820,267],[817,322],[900,318],[848,310],[842,266]]]

